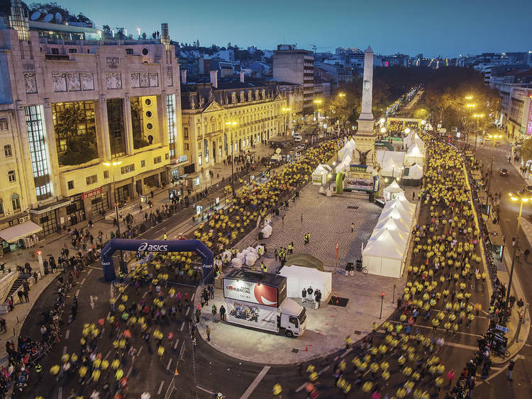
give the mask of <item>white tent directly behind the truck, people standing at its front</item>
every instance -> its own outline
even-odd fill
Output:
[[[309,288],[309,286],[314,291],[316,288],[321,291],[321,300],[323,301],[331,295],[333,273],[303,266],[284,266],[279,274],[287,278],[287,297],[300,297],[301,290]]]

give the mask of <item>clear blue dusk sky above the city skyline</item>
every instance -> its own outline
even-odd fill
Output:
[[[28,1],[31,3],[31,1]],[[279,43],[320,51],[455,57],[532,50],[531,0],[57,0],[101,27],[150,35],[167,22],[179,42],[274,49]]]

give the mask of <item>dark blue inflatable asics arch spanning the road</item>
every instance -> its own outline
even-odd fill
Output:
[[[214,254],[199,240],[130,240],[111,239],[101,249],[101,267],[104,269],[104,277],[111,281],[116,278],[113,265],[113,253],[115,251],[135,252],[195,252],[201,257],[203,268],[203,280],[206,284],[214,283],[213,265]]]

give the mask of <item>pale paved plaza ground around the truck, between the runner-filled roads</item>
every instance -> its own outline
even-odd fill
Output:
[[[294,241],[294,254],[309,253],[316,256],[323,261],[325,270],[333,273],[333,292],[338,297],[349,298],[347,306],[327,305],[327,298],[323,300],[320,309],[314,310],[314,303],[301,303],[299,298],[294,298],[306,307],[307,329],[302,337],[289,339],[219,321],[211,322],[211,306],[214,303],[219,309],[224,302],[222,290],[217,288],[216,300],[209,301],[209,306],[202,309],[199,332],[206,339],[205,329],[209,324],[210,343],[219,351],[258,363],[264,363],[265,359],[270,364],[307,361],[342,348],[348,335],[353,341],[363,337],[371,331],[372,322],[380,324],[395,310],[394,291],[396,296],[397,293],[402,293],[406,283],[404,278],[363,275],[357,272],[353,277],[345,277],[344,271],[347,261],[354,261],[360,256],[362,243],[370,237],[382,209],[354,195],[326,197],[319,194],[318,190],[319,187],[314,185],[305,187],[296,203],[290,202],[289,208],[275,217],[272,236],[261,241],[268,248],[267,255],[261,260],[265,261],[270,271],[276,270],[279,262],[275,261],[274,249],[286,247],[290,241]],[[355,224],[353,233],[351,222]],[[303,236],[307,232],[311,234],[311,240],[309,245],[304,246]],[[243,250],[255,242],[255,234],[250,234],[240,241],[238,248]],[[382,292],[385,298],[382,319],[379,320]],[[198,296],[196,295],[196,304]]]

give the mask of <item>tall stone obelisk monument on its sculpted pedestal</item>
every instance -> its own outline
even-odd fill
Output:
[[[358,165],[367,165],[378,169],[375,155],[375,119],[372,113],[373,92],[373,50],[370,46],[364,52],[364,77],[362,85],[362,109],[358,117],[358,131],[355,134],[355,151],[353,160]],[[378,170],[377,170],[378,171]],[[369,172],[369,170],[368,170]]]

